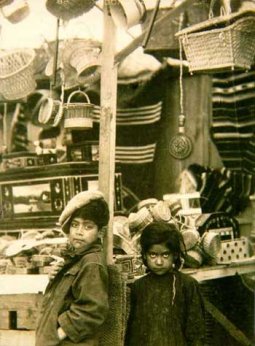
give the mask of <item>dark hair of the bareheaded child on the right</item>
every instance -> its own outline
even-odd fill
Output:
[[[144,264],[147,266],[146,253],[155,244],[166,244],[169,251],[174,256],[175,268],[182,265],[182,258],[185,253],[185,245],[182,235],[177,227],[172,223],[155,221],[144,228],[141,238],[141,254]]]

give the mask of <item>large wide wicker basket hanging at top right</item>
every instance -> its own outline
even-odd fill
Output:
[[[255,13],[252,11],[242,17],[209,19],[176,35],[181,40],[190,72],[247,70],[255,62]]]

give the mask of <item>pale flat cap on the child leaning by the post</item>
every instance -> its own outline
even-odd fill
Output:
[[[105,201],[104,195],[101,191],[82,191],[82,192],[79,192],[77,195],[75,195],[72,199],[70,199],[65,209],[62,211],[61,215],[59,216],[59,220],[58,220],[63,230],[65,226],[67,225],[70,217],[73,215],[73,213],[77,209],[80,209],[81,207],[84,207],[90,202],[96,201],[96,200]]]

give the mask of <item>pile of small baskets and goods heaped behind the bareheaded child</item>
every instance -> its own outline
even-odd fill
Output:
[[[164,200],[149,198],[138,203],[136,212],[115,216],[114,254],[122,272],[129,277],[145,272],[139,238],[153,221],[174,223],[181,232],[184,268],[240,263],[252,257],[249,239],[240,237],[236,219],[223,212],[202,214],[194,205],[187,207],[187,195],[192,194],[164,195]]]

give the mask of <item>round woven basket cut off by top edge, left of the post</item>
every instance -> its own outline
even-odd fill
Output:
[[[95,5],[93,0],[47,0],[46,8],[57,18],[70,20],[90,11]]]

